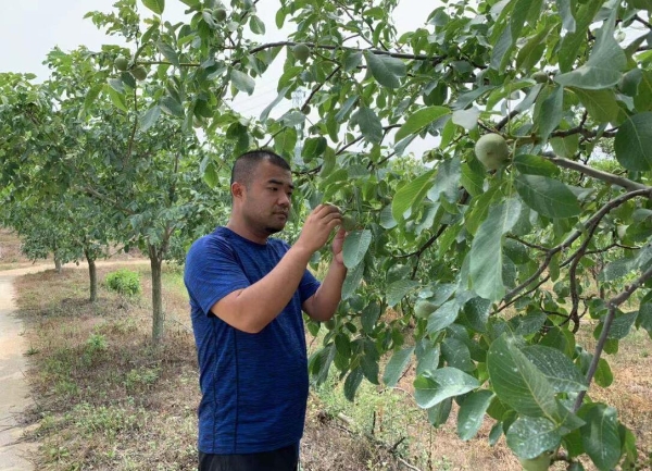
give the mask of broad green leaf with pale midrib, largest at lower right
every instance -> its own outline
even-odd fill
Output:
[[[516,412],[549,419],[556,414],[553,387],[506,334],[489,347],[487,371],[498,398]]]

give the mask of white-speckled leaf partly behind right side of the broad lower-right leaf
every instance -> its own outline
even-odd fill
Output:
[[[587,389],[581,372],[556,348],[532,345],[522,351],[548,377],[555,393],[577,393]]]

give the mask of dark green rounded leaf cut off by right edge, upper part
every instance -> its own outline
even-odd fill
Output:
[[[616,133],[614,149],[616,159],[625,169],[652,170],[652,112],[628,117]]]

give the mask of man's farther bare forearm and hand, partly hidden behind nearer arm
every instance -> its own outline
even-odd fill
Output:
[[[342,247],[346,231],[339,230],[333,240],[333,261],[316,293],[303,302],[303,310],[314,321],[324,322],[333,318],[342,297],[342,285],[347,277]]]

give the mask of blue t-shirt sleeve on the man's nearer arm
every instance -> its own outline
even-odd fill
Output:
[[[234,249],[217,238],[200,239],[190,248],[184,278],[188,293],[205,314],[215,302],[251,284]]]

